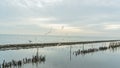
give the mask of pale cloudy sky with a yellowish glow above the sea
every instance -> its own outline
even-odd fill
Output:
[[[0,0],[0,34],[119,36],[120,0]]]

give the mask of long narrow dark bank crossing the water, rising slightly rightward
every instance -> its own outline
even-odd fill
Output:
[[[51,46],[63,46],[63,45],[75,45],[75,44],[90,44],[90,43],[102,43],[102,42],[117,42],[120,40],[97,40],[97,41],[80,41],[80,42],[55,42],[55,43],[29,43],[29,44],[6,44],[0,45],[1,50],[12,49],[28,49],[28,48],[43,48]]]

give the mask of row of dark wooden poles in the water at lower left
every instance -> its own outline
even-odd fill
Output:
[[[14,67],[18,67],[20,68],[22,65],[24,64],[29,64],[29,63],[41,63],[41,62],[45,62],[46,58],[45,56],[33,56],[32,58],[23,58],[22,60],[16,61],[16,60],[12,60],[10,62],[6,62],[5,60],[3,60],[3,63],[0,64],[0,68],[14,68]]]

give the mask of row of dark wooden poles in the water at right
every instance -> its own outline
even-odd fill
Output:
[[[85,49],[85,50],[77,50],[77,51],[74,51],[73,54],[74,55],[85,55],[85,54],[88,54],[88,53],[93,53],[93,52],[97,52],[97,51],[104,51],[104,50],[107,50],[107,49],[115,49],[117,47],[120,47],[120,42],[110,42],[109,43],[109,46],[101,46],[99,48],[89,48],[89,49]]]

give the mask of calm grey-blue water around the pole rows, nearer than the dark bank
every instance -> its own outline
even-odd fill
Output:
[[[109,43],[85,44],[84,49],[98,48],[99,46],[108,46]],[[106,51],[98,51],[85,55],[74,55],[78,49],[82,49],[83,45],[71,46],[54,46],[39,48],[38,54],[45,55],[45,62],[28,63],[21,68],[120,68],[120,50],[119,48]],[[30,58],[36,55],[37,48],[0,51],[0,63],[5,59],[6,62],[11,60],[21,60],[25,57]]]

